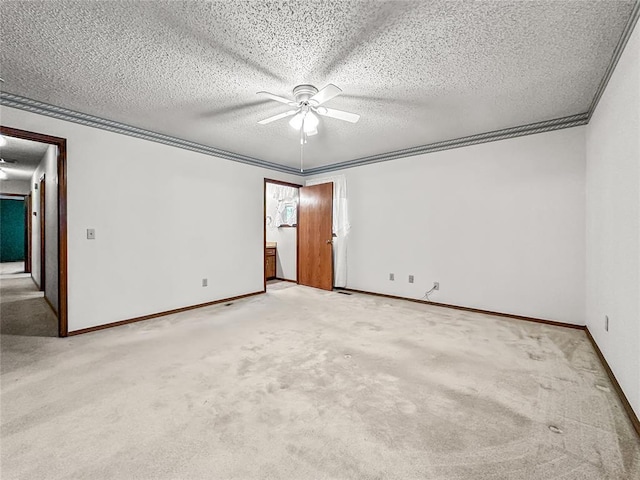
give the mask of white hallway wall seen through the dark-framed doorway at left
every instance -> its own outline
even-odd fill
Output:
[[[45,176],[45,297],[58,311],[58,149],[49,146],[31,177],[31,276],[40,285],[40,190]]]

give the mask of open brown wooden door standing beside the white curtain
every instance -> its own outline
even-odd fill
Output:
[[[298,283],[333,289],[333,183],[300,188]]]

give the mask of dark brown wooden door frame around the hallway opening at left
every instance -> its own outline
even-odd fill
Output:
[[[58,147],[58,336],[69,335],[67,280],[67,139],[0,125],[0,134]]]

